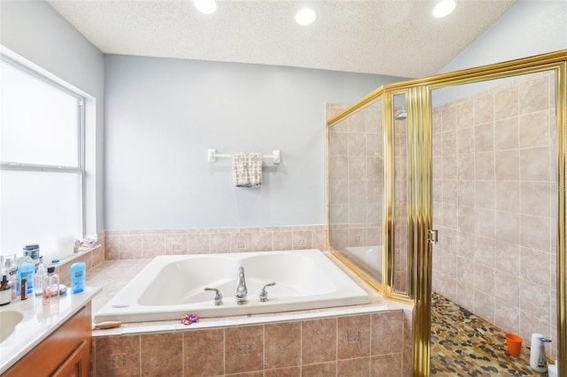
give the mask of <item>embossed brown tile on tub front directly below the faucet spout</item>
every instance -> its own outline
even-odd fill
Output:
[[[225,329],[225,373],[244,373],[263,369],[263,326]]]

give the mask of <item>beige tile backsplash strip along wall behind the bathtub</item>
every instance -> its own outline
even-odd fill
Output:
[[[327,250],[327,227],[107,230],[105,260],[270,250]]]

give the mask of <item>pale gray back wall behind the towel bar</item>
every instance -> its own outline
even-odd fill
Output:
[[[106,56],[108,230],[325,224],[325,103],[399,78]],[[235,188],[206,150],[282,151],[264,187]]]

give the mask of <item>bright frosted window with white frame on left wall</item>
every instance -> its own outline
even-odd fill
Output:
[[[61,254],[85,232],[84,99],[0,57],[1,253]]]

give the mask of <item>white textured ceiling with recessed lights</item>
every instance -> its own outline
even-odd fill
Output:
[[[423,77],[447,65],[517,0],[457,0],[434,19],[432,1],[48,0],[108,54],[287,65]],[[318,17],[294,21],[309,4]]]

